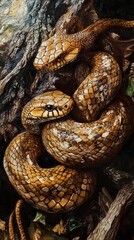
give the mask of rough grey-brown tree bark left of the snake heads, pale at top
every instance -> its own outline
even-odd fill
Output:
[[[7,123],[15,123],[20,118],[23,105],[43,78],[43,73],[38,74],[32,65],[41,41],[48,38],[55,22],[68,7],[75,7],[78,12],[83,3],[84,0],[1,2],[1,127],[6,124],[7,128]]]

